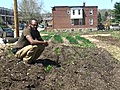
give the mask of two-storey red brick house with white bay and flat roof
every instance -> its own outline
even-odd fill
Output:
[[[93,30],[98,25],[98,6],[52,7],[54,30]]]

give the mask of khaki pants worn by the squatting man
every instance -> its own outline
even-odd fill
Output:
[[[25,63],[30,63],[36,60],[44,49],[44,45],[28,45],[17,51],[15,57],[23,59]]]

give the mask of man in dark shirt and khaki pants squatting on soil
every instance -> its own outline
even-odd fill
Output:
[[[22,59],[25,63],[33,63],[43,52],[48,42],[44,41],[37,30],[38,21],[31,19],[29,26],[24,28],[16,47],[19,49],[15,57]]]

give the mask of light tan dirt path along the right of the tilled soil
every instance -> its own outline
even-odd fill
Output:
[[[101,41],[98,39],[93,38],[93,36],[111,36],[110,34],[96,34],[96,35],[82,35],[82,37],[85,37],[89,39],[91,42],[93,42],[98,48],[102,47],[106,49],[115,59],[120,61],[120,47],[116,45],[111,45],[106,43],[106,41]]]

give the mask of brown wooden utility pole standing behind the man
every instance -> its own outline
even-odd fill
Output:
[[[14,0],[14,26],[15,26],[16,37],[19,37],[17,0]]]

